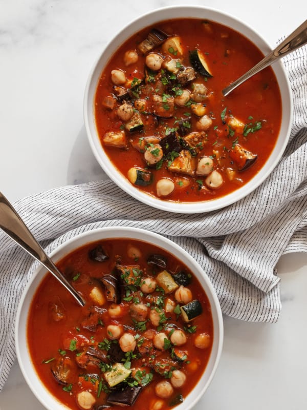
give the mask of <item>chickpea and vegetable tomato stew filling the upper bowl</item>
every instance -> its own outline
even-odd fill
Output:
[[[201,19],[133,35],[96,91],[106,155],[132,185],[161,199],[212,200],[242,187],[276,144],[280,92],[271,68],[227,98],[222,89],[262,57],[243,35]]]

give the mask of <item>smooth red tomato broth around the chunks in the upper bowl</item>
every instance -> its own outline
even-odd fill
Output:
[[[204,77],[198,74],[195,81],[203,83],[209,92],[212,92],[210,98],[205,103],[207,114],[210,114],[212,117],[213,124],[207,131],[207,144],[205,144],[199,155],[210,156],[213,150],[219,151],[220,155],[225,157],[220,160],[220,164],[214,158],[214,169],[219,171],[225,170],[226,167],[235,169],[235,165],[228,155],[228,151],[233,148],[235,141],[248,151],[257,154],[258,157],[253,165],[245,171],[237,171],[235,169],[236,177],[233,180],[229,180],[223,171],[224,183],[220,188],[214,190],[201,189],[199,182],[196,182],[196,180],[204,181],[205,178],[198,175],[191,177],[170,172],[166,169],[164,162],[160,170],[152,171],[154,176],[153,182],[150,185],[145,187],[138,186],[137,188],[150,195],[157,196],[156,182],[160,178],[171,178],[175,182],[176,177],[188,178],[190,180],[188,188],[181,187],[177,180],[174,191],[165,198],[166,200],[181,202],[211,200],[235,191],[253,178],[265,165],[274,149],[280,129],[281,97],[275,74],[270,67],[253,76],[228,97],[223,97],[222,89],[254,66],[263,55],[249,39],[238,32],[218,23],[209,23],[211,32],[205,32],[202,20],[194,18],[169,20],[151,27],[158,28],[168,35],[176,34],[182,38],[185,49],[182,63],[184,66],[191,66],[188,57],[189,50],[198,48],[203,53],[206,53],[206,57],[208,57],[207,61],[213,77],[207,78],[206,81]],[[110,74],[113,69],[124,70],[128,80],[135,77],[144,77],[145,56],[138,52],[139,58],[137,63],[126,67],[123,63],[123,55],[126,50],[136,50],[137,45],[146,38],[151,27],[130,37],[116,51],[101,75],[95,96],[96,127],[102,147],[114,166],[125,177],[127,177],[128,170],[131,167],[146,168],[144,155],[133,148],[130,142],[126,149],[103,145],[102,140],[105,133],[119,131],[124,123],[116,114],[116,110],[110,112],[101,103],[104,97],[113,95],[113,83]],[[154,48],[150,52],[161,53],[161,46]],[[227,56],[226,52],[228,53]],[[183,88],[190,89],[190,86],[183,86]],[[187,107],[176,107],[174,115],[178,119],[184,118],[184,113],[189,111],[189,109]],[[261,128],[256,132],[250,132],[247,136],[237,132],[230,136],[227,125],[223,124],[221,118],[221,113],[225,107],[227,107],[227,115],[237,117],[248,127],[251,127],[250,123],[254,124],[256,121],[261,121]],[[253,117],[252,119],[251,116]],[[128,132],[126,132],[128,140],[135,142],[140,137],[153,135],[163,138],[166,127],[175,127],[173,124],[174,118],[162,119],[158,126],[155,125],[151,115],[143,115],[142,119],[145,125],[145,132],[136,132],[131,135],[128,135]],[[197,120],[198,118],[192,114],[192,128],[190,131],[195,131],[194,124]],[[203,185],[205,184],[203,183]]]

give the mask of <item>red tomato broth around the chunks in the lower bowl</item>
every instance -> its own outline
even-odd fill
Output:
[[[34,295],[28,316],[28,346],[38,377],[60,402],[64,403],[73,410],[79,409],[75,399],[75,394],[81,391],[81,388],[78,385],[78,376],[84,373],[98,373],[101,376],[101,373],[99,373],[97,367],[94,368],[94,366],[90,366],[88,369],[83,369],[78,367],[78,365],[75,365],[72,369],[69,380],[69,383],[72,383],[72,389],[71,392],[66,392],[63,391],[63,386],[58,384],[52,375],[51,366],[53,361],[50,363],[44,363],[44,361],[48,361],[52,358],[57,360],[60,357],[75,359],[76,352],[81,352],[82,349],[84,349],[84,343],[85,346],[97,346],[98,342],[101,342],[108,337],[106,333],[106,326],[110,323],[126,323],[128,325],[133,325],[128,313],[127,302],[122,301],[121,306],[123,308],[123,315],[120,319],[112,319],[108,316],[108,314],[105,314],[103,316],[104,326],[98,326],[95,333],[82,327],[82,321],[89,315],[89,306],[94,304],[89,297],[90,289],[93,287],[91,283],[93,282],[93,279],[95,281],[95,279],[101,278],[102,275],[112,272],[115,267],[115,261],[118,259],[119,255],[121,256],[120,263],[122,265],[138,263],[140,264],[143,272],[147,272],[147,274],[151,273],[151,269],[149,268],[149,265],[147,265],[146,260],[149,255],[155,253],[167,257],[167,270],[169,272],[173,273],[180,270],[185,270],[186,272],[191,273],[179,259],[164,250],[149,243],[130,239],[108,239],[99,241],[99,243],[102,244],[103,248],[106,250],[109,259],[102,263],[94,262],[89,259],[88,253],[89,250],[93,249],[97,243],[98,242],[86,244],[83,247],[73,251],[57,263],[59,269],[62,272],[65,272],[70,280],[72,280],[73,277],[76,277],[76,273],[80,273],[78,279],[75,281],[72,280],[72,283],[74,284],[75,289],[84,297],[86,305],[83,308],[77,305],[73,297],[63,288],[63,286],[61,286],[51,274],[48,274],[46,278],[42,280]],[[128,245],[133,245],[142,250],[142,256],[137,262],[131,262],[131,258],[127,256]],[[143,267],[145,267],[145,269],[143,269]],[[159,269],[157,272],[160,272],[161,270],[162,269]],[[196,332],[194,334],[187,334],[188,340],[186,344],[182,346],[183,350],[188,352],[188,359],[190,361],[190,364],[185,364],[183,367],[187,376],[187,381],[183,387],[174,388],[174,393],[170,399],[159,399],[155,395],[154,387],[159,380],[165,379],[152,371],[152,373],[155,373],[153,380],[146,387],[143,387],[141,394],[135,404],[131,407],[134,408],[134,410],[143,409],[144,400],[148,403],[147,407],[149,409],[152,402],[157,400],[163,400],[164,404],[161,407],[162,409],[171,408],[172,406],[169,406],[170,400],[178,394],[182,394],[185,398],[198,382],[206,368],[213,342],[213,322],[210,304],[198,279],[196,279],[193,275],[192,282],[188,287],[192,292],[193,299],[200,300],[203,313],[191,322],[193,326],[196,326]],[[155,292],[152,295],[156,294],[158,294],[158,292]],[[53,320],[51,304],[61,306],[61,309],[64,310],[65,314],[64,319],[59,321]],[[111,303],[106,302],[106,305],[109,304]],[[105,305],[100,307],[107,308]],[[172,322],[178,323],[176,321],[177,315],[174,313],[168,313],[167,315],[168,317],[172,317]],[[179,319],[179,321],[180,320],[181,319]],[[179,322],[179,327],[183,328],[183,322]],[[150,321],[148,321],[147,329],[152,328],[153,325]],[[194,346],[194,338],[200,333],[207,333],[210,335],[210,345],[208,348],[200,349]],[[76,340],[75,351],[70,351],[72,339]],[[65,354],[61,356],[59,351],[65,351]],[[159,360],[164,357],[166,357],[166,352],[162,352],[159,356]],[[195,363],[197,364],[196,367]],[[138,359],[134,363],[134,365],[138,364],[141,364],[141,359]],[[192,368],[192,366],[195,368]],[[84,380],[82,380],[82,385],[85,390],[90,388],[91,391],[94,392],[94,396],[97,396],[97,385],[94,386],[91,381],[85,382]],[[102,391],[100,397],[96,397],[96,404],[103,404],[106,396],[107,394]],[[114,408],[114,410],[119,410],[121,407],[115,405],[112,406],[112,408]]]

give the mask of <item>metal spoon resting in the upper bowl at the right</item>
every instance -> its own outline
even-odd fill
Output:
[[[283,40],[273,51],[271,51],[266,57],[262,58],[258,64],[251,68],[247,73],[243,74],[237,80],[233,81],[228,87],[222,90],[223,95],[226,97],[231,91],[244,83],[248,78],[254,74],[263,70],[264,68],[275,63],[279,58],[291,53],[292,51],[302,47],[307,43],[307,20],[304,21],[292,34]]]

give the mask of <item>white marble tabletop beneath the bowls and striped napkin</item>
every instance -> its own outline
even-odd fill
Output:
[[[14,201],[56,186],[105,177],[87,143],[87,75],[109,39],[149,10],[187,2],[0,0],[0,189]],[[306,17],[300,0],[194,1],[236,15],[273,46]],[[225,317],[220,366],[195,409],[306,408],[307,255],[278,262],[283,309],[277,324]],[[15,363],[1,410],[42,410]]]

